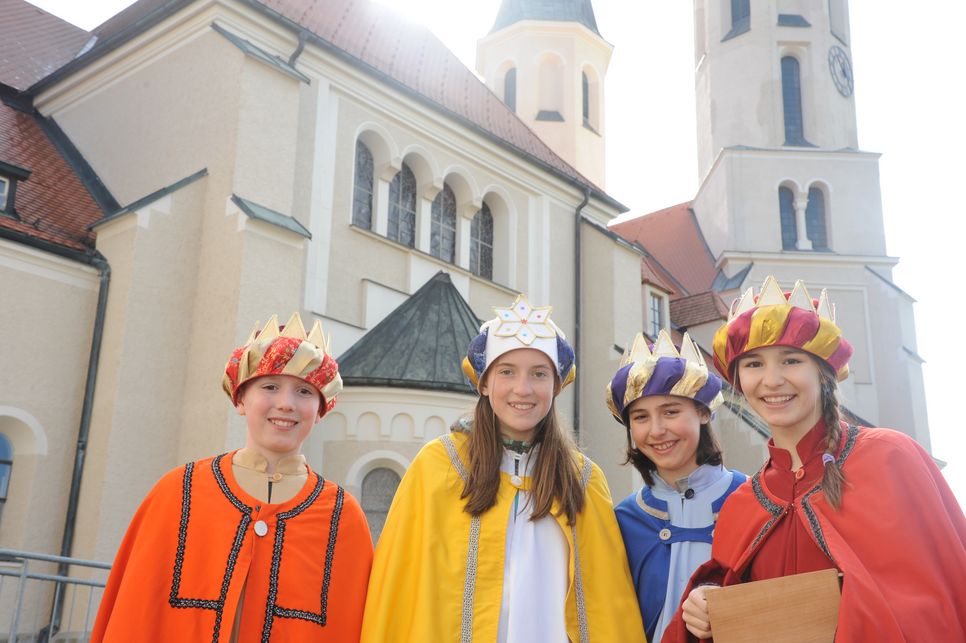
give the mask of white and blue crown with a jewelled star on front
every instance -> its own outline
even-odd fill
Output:
[[[517,348],[533,348],[547,355],[557,371],[561,390],[574,381],[574,349],[551,321],[552,307],[531,306],[526,295],[518,295],[509,307],[493,311],[496,318],[480,326],[480,334],[470,342],[463,358],[463,372],[477,391],[490,364]]]

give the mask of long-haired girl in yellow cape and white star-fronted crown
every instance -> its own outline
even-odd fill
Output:
[[[575,368],[550,312],[521,295],[470,343],[472,423],[424,446],[403,477],[363,641],[644,641],[607,482],[554,409]]]

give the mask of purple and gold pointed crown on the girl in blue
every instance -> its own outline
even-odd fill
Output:
[[[721,378],[708,371],[697,344],[685,333],[678,350],[666,330],[658,333],[653,348],[641,333],[634,337],[607,385],[607,408],[626,424],[627,407],[649,395],[687,397],[711,411],[723,401]]]

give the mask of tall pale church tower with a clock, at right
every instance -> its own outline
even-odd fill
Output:
[[[695,216],[719,289],[827,287],[855,344],[845,405],[926,448],[913,299],[892,281],[879,155],[856,134],[847,0],[694,0]],[[861,78],[861,70],[859,72]],[[861,81],[859,81],[861,82]]]

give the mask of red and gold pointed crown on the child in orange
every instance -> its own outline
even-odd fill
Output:
[[[322,325],[315,320],[312,332],[306,334],[298,313],[284,326],[278,325],[276,315],[261,330],[256,323],[248,340],[234,350],[225,364],[221,385],[232,404],[238,404],[242,385],[265,375],[292,375],[317,388],[322,394],[319,417],[332,410],[342,391],[339,365],[329,354]]]

